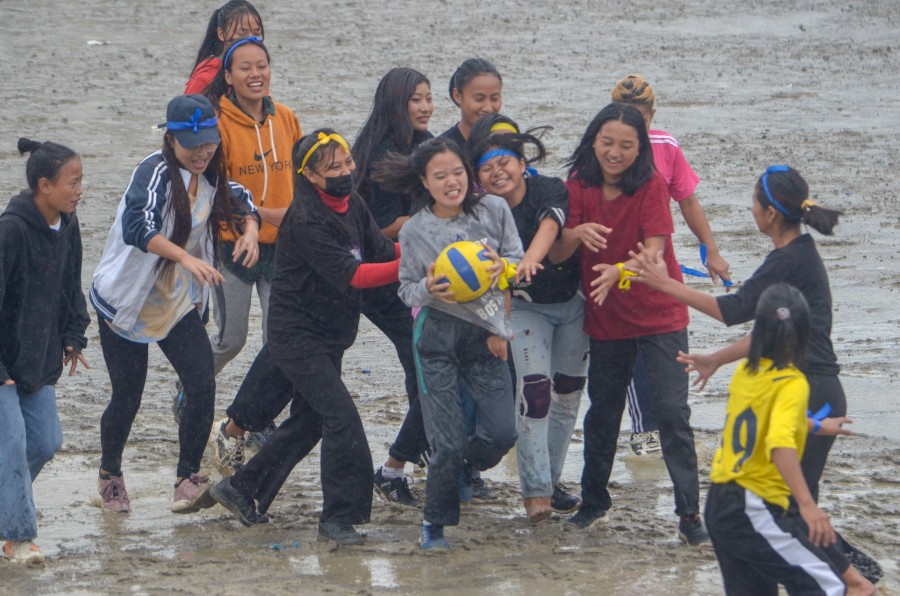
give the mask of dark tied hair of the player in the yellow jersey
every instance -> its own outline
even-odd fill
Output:
[[[760,358],[778,369],[802,363],[809,326],[809,304],[800,290],[783,283],[766,288],[756,303],[747,368],[757,372]]]

